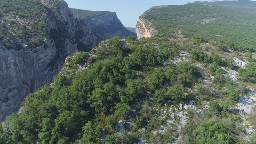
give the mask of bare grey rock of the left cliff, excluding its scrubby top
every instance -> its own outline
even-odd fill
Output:
[[[8,49],[4,44],[17,42],[0,40],[0,121],[17,112],[30,92],[53,82],[68,54],[77,52],[78,46],[89,51],[96,44],[90,22],[78,22],[66,2],[58,0],[54,6],[41,2],[49,15],[45,28],[49,40],[37,48],[24,45],[20,50]]]

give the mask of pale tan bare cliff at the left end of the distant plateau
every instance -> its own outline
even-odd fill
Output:
[[[138,38],[148,38],[154,35],[156,30],[150,26],[147,19],[140,17],[136,24],[136,34]]]

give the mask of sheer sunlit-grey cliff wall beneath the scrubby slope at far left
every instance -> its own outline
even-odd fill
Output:
[[[24,97],[53,81],[56,71],[47,66],[56,57],[54,41],[32,51],[6,50],[0,44],[0,120],[16,112]],[[75,50],[75,49],[74,49]]]

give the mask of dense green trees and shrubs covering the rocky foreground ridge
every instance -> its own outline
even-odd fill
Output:
[[[242,120],[232,107],[246,89],[221,70],[233,68],[232,61],[201,53],[200,48],[194,39],[177,44],[167,38],[128,36],[124,42],[116,36],[90,53],[72,54],[53,87],[46,84],[30,94],[21,111],[6,118],[0,143],[91,144],[105,137],[106,144],[134,144],[140,139],[167,144],[179,134],[182,143],[245,143]],[[188,61],[172,62],[191,50]],[[86,70],[77,72],[79,66]],[[203,81],[208,79],[206,72],[214,76],[212,83]],[[188,124],[181,131],[174,112],[182,112],[180,104],[191,100],[199,111],[186,110]],[[208,101],[208,110],[202,110]],[[166,123],[172,114],[175,120]],[[161,133],[163,126],[167,129]]]

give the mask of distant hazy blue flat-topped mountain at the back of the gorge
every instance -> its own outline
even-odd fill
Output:
[[[113,36],[119,36],[120,38],[127,36],[134,36],[136,34],[127,30],[122,22],[118,19],[116,12],[107,11],[90,11],[79,10],[70,8],[74,16],[79,16],[80,19],[87,19],[90,21],[94,30],[92,34],[97,36],[98,40],[106,40]]]

